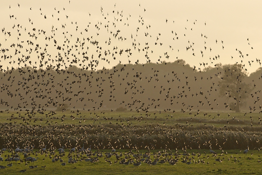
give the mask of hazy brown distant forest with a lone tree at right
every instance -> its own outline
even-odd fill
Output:
[[[118,64],[98,71],[76,66],[67,70],[52,66],[24,67],[0,72],[0,77],[1,112],[122,107],[138,113],[150,110],[190,113],[198,109],[233,111],[239,102],[241,111],[261,111],[260,91],[256,87],[262,85],[262,68],[247,75],[240,64],[205,65],[203,70],[190,67],[184,60]]]

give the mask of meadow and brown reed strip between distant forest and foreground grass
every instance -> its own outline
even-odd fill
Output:
[[[157,120],[154,120],[156,117]],[[234,117],[212,112],[196,117],[153,112],[147,115],[58,112],[53,115],[36,114],[31,118],[22,114],[3,114],[0,119],[0,146],[14,149],[17,145],[47,145],[54,150],[61,145],[72,148],[83,144],[99,149],[208,149],[212,145],[213,149],[230,150],[244,149],[248,145],[260,149],[259,114],[236,113]]]

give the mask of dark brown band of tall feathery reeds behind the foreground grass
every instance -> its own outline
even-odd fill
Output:
[[[259,129],[259,128],[258,128]],[[245,149],[247,146],[260,148],[262,144],[261,131],[235,131],[229,129],[182,130],[151,126],[109,128],[104,126],[39,126],[13,127],[3,126],[0,130],[0,147],[15,149],[34,145],[41,148],[47,145],[50,149],[62,146],[66,148],[96,147],[99,149]]]

